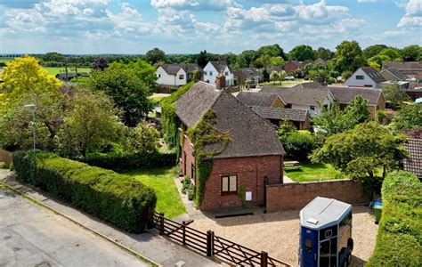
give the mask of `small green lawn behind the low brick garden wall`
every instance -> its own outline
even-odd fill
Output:
[[[285,174],[295,182],[312,182],[345,178],[344,174],[341,174],[329,164],[301,163],[299,170],[288,170]]]

